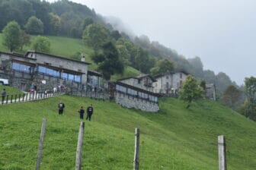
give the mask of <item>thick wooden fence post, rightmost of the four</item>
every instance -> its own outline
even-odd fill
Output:
[[[219,170],[227,170],[226,165],[226,141],[223,135],[218,136]]]

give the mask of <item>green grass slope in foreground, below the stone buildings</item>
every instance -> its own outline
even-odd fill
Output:
[[[64,115],[57,103],[66,103]],[[226,135],[230,170],[256,167],[256,125],[242,115],[202,101],[190,109],[178,99],[162,99],[158,113],[124,109],[110,101],[59,96],[1,105],[0,169],[33,169],[42,118],[47,118],[41,169],[74,169],[78,109],[94,105],[85,121],[83,169],[132,169],[134,129],[140,129],[140,169],[216,170],[217,136]]]

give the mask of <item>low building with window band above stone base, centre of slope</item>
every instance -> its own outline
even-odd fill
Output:
[[[146,112],[158,112],[158,94],[116,81],[112,83],[113,99],[126,108],[140,109]]]

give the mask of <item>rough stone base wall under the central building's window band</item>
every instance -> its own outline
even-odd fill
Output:
[[[144,99],[139,99],[133,96],[128,96],[123,93],[116,93],[115,101],[126,108],[140,109],[146,112],[158,112],[159,107],[156,102],[149,102]]]

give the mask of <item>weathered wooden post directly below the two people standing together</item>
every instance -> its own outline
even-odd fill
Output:
[[[84,129],[85,129],[85,122],[81,121],[79,134],[78,134],[78,145],[76,149],[75,170],[82,169],[82,143],[84,138]]]

